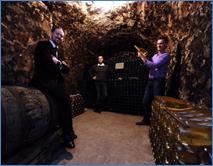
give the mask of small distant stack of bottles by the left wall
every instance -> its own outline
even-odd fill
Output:
[[[72,106],[72,117],[76,117],[84,112],[84,99],[81,94],[70,95]]]

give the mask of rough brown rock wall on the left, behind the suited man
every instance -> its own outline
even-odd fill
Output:
[[[2,83],[27,85],[33,74],[36,43],[49,38],[53,25],[60,25],[66,34],[61,48],[72,71],[66,83],[76,92],[76,80],[82,77],[83,63],[88,61],[93,26],[78,3],[3,2],[2,12]]]

